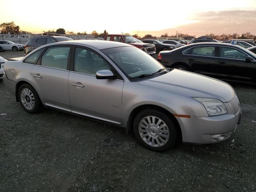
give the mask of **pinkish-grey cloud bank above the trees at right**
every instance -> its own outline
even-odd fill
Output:
[[[175,28],[150,32],[156,36],[160,36],[166,32],[171,35],[175,34],[176,31],[196,36],[210,33],[219,35],[222,33],[242,34],[244,32],[251,32],[251,34],[256,34],[256,9],[201,12],[191,15],[190,20],[194,22],[186,25],[180,25]]]

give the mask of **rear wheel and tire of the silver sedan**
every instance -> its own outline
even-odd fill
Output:
[[[42,103],[36,90],[29,84],[22,84],[18,91],[18,97],[22,108],[28,113],[38,113],[42,108]]]

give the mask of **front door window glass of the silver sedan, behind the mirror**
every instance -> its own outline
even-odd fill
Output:
[[[84,48],[76,48],[74,71],[85,74],[96,74],[99,70],[108,69],[110,65],[97,53]]]

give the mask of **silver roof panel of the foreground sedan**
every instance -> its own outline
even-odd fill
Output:
[[[114,48],[114,47],[134,47],[130,44],[126,43],[120,43],[120,42],[114,42],[114,41],[105,41],[105,40],[71,40],[71,41],[62,41],[62,42],[56,42],[52,43],[52,45],[58,45],[58,44],[70,44],[70,45],[81,45],[81,46],[92,46],[94,48],[97,48],[99,50],[101,49],[108,49],[108,48]]]

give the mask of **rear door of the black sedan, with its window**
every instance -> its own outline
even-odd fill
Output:
[[[194,46],[183,53],[194,72],[206,76],[218,76],[215,46]]]

